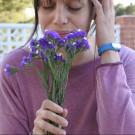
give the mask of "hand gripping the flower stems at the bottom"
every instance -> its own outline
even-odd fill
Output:
[[[62,114],[62,116],[56,113]],[[55,104],[50,100],[43,101],[41,108],[36,112],[36,119],[34,120],[33,134],[45,134],[47,131],[53,134],[66,134],[64,129],[60,129],[51,125],[47,120],[51,120],[62,127],[68,126],[68,121],[64,118],[68,114],[67,109]]]

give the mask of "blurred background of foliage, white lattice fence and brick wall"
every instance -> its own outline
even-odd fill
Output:
[[[24,45],[33,27],[32,0],[0,0],[0,60]],[[116,42],[135,49],[135,0],[114,0]]]

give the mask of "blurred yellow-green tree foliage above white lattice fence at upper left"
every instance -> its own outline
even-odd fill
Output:
[[[0,0],[0,22],[25,22],[24,10],[32,7],[32,0]]]

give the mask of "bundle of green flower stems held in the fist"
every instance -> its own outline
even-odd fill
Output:
[[[68,81],[68,74],[69,74],[69,70],[71,65],[65,64],[63,65],[63,69],[57,71],[54,73],[54,70],[52,68],[51,62],[50,60],[48,61],[49,66],[51,68],[52,71],[52,84],[51,84],[51,89],[50,89],[50,93],[48,95],[48,98],[57,103],[58,105],[62,106],[64,103],[64,96],[65,96],[65,90],[66,90],[66,86],[67,86],[67,81]],[[60,114],[58,114],[60,115]],[[50,124],[59,127],[58,124],[49,121]],[[47,135],[53,135],[50,132],[47,132]]]

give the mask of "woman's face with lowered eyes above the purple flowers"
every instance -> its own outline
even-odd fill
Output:
[[[41,29],[57,31],[61,36],[76,30],[89,30],[89,0],[40,0],[38,17]]]

